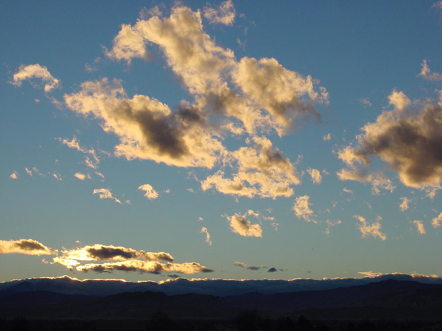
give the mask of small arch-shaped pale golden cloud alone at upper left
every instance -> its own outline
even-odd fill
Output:
[[[12,77],[11,83],[16,86],[21,86],[24,80],[30,81],[30,79],[33,78],[39,78],[46,83],[44,85],[45,92],[51,92],[53,89],[60,87],[60,81],[51,75],[48,68],[39,64],[29,64],[27,66],[22,64]],[[34,87],[35,86],[37,85],[34,85]]]

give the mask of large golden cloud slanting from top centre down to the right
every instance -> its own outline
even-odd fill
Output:
[[[233,12],[229,1],[215,11],[206,8],[218,20],[222,8]],[[325,88],[316,88],[317,80],[283,68],[274,58],[236,61],[233,51],[217,46],[204,32],[201,12],[180,4],[172,7],[169,17],[122,25],[107,55],[130,63],[133,58],[145,58],[148,45],[158,45],[164,52],[167,65],[194,96],[196,108],[226,115],[229,122],[237,119],[249,133],[271,127],[285,134],[297,117],[319,119],[312,102],[328,99]]]

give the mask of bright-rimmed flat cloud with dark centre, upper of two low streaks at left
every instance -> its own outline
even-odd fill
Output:
[[[132,248],[122,246],[94,244],[72,250],[61,251],[62,258],[92,261],[92,260],[129,260],[129,259],[143,259],[145,261],[173,261],[173,256],[165,253],[152,253],[143,250],[136,251]]]

